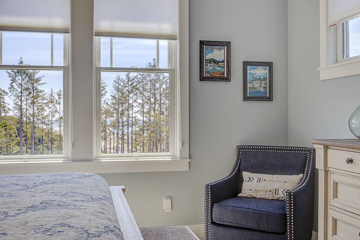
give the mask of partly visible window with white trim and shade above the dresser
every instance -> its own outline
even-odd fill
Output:
[[[320,0],[320,79],[360,74],[360,1]]]

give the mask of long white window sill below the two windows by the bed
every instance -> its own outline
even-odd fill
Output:
[[[161,160],[95,160],[1,162],[0,175],[33,174],[43,172],[157,172],[188,171],[190,159]]]

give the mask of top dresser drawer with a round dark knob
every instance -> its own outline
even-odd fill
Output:
[[[346,158],[352,158],[352,163],[346,163]],[[337,149],[328,149],[328,167],[359,173],[360,153]]]

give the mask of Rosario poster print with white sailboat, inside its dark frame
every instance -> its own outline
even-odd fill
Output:
[[[268,97],[268,66],[248,66],[248,96]]]

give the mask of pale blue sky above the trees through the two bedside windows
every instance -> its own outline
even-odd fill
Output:
[[[17,65],[23,57],[25,64],[51,64],[51,37],[49,33],[3,32],[2,57],[4,65]],[[54,34],[54,65],[63,65],[63,34]],[[159,41],[159,66],[168,68],[167,41]],[[113,38],[113,66],[130,68],[131,66],[145,67],[148,62],[156,59],[156,40]],[[110,38],[103,37],[101,41],[101,66],[110,66]],[[39,76],[44,75],[46,82],[41,88],[45,92],[50,89],[56,92],[63,89],[63,73],[61,70],[41,70]],[[116,74],[103,72],[102,78],[111,86]],[[125,76],[125,73],[122,75]],[[0,70],[0,88],[8,91],[10,80],[6,70]],[[12,101],[8,98],[6,102]],[[11,107],[11,106],[10,106]]]

